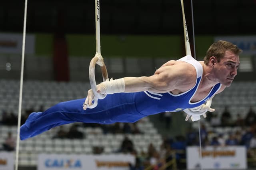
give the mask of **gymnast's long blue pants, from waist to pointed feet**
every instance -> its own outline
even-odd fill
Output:
[[[82,109],[85,99],[58,103],[44,112],[31,113],[20,127],[20,139],[36,136],[50,128],[74,123],[111,124],[116,122],[133,123],[145,117],[135,106],[134,93],[115,93],[98,100],[97,107]]]

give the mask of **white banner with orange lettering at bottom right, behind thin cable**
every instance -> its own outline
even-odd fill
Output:
[[[187,169],[200,168],[200,150],[198,146],[186,148]],[[247,169],[246,148],[244,146],[202,148],[203,169]]]

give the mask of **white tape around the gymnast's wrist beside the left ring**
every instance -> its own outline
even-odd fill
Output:
[[[104,85],[106,87],[106,94],[114,94],[114,93],[122,93],[124,92],[124,79],[116,79],[113,80],[112,78],[110,80],[106,80],[101,85]]]

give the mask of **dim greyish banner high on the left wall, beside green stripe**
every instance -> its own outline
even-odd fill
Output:
[[[22,34],[0,33],[0,53],[21,54]],[[35,36],[26,34],[25,53],[34,54]]]

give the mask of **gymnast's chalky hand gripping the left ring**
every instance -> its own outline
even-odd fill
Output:
[[[102,95],[105,95],[106,94],[106,86],[102,83],[98,84],[97,85],[97,93],[100,93]],[[83,104],[83,109],[86,110],[88,106],[91,106],[92,105],[92,101],[94,101],[94,93],[92,91],[92,89],[88,90],[87,92],[87,97],[84,101],[84,104]]]

